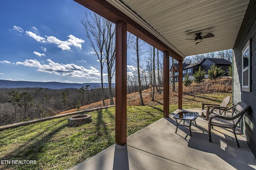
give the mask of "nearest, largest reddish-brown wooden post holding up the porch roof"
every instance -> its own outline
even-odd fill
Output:
[[[116,144],[127,141],[127,24],[116,23]]]

